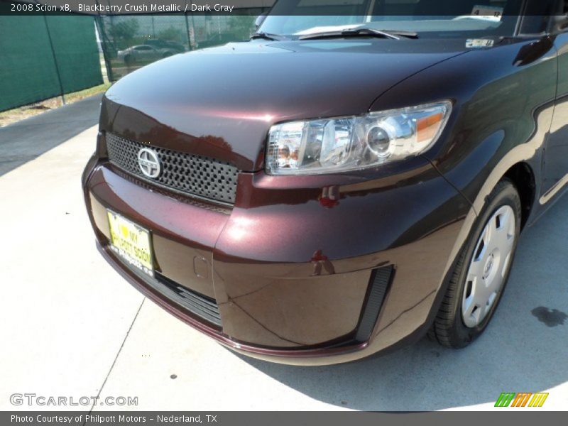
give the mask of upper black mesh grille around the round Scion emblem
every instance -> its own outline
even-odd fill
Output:
[[[158,155],[162,169],[158,178],[147,178],[138,167],[141,148],[151,148]],[[237,169],[229,163],[148,146],[112,133],[107,133],[107,152],[111,163],[149,182],[218,202],[235,202]]]

